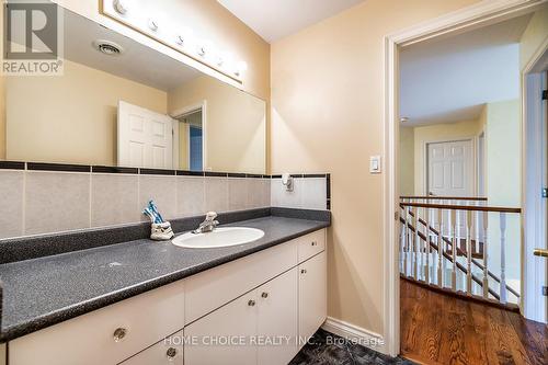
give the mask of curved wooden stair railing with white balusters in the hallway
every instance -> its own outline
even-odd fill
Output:
[[[437,202],[449,201],[450,203],[455,201],[455,197],[443,196],[402,198],[423,198]],[[449,287],[455,293],[458,292],[463,295],[477,297],[487,301],[493,300],[490,298],[491,296],[498,300],[498,304],[503,306],[507,305],[507,293],[511,293],[518,299],[520,293],[509,286],[505,280],[505,244],[506,215],[520,214],[521,209],[479,205],[482,204],[479,203],[479,201],[484,202],[487,199],[478,197],[459,199],[477,202],[472,203],[476,205],[468,205],[470,204],[469,202],[465,202],[467,205],[416,202],[400,203],[400,207],[403,209],[403,214],[399,219],[402,224],[402,232],[400,236],[400,251],[402,252],[400,270],[402,274],[408,278],[421,281],[427,285],[437,286],[445,290],[447,289],[445,284],[447,284],[448,280],[446,275],[450,273]],[[445,216],[443,212],[448,213],[448,215]],[[494,275],[493,272],[487,267],[487,227],[489,217],[493,218],[492,216],[488,217],[488,213],[498,213],[500,216],[499,228],[501,235],[500,246],[498,246],[501,253],[500,277]],[[436,217],[439,227],[442,227],[442,225],[445,227],[443,233],[430,224],[436,221]],[[477,223],[476,226],[475,217]],[[422,227],[422,229],[419,227]],[[480,232],[483,235],[483,238],[481,238]],[[439,247],[442,242],[443,244]],[[490,244],[492,243],[495,242],[490,242]],[[432,256],[432,265],[429,261],[431,253],[435,253],[434,256]],[[465,262],[459,262],[461,261],[459,258],[465,258]],[[479,260],[483,260],[483,263]],[[424,261],[426,264],[424,264]],[[437,281],[432,278],[431,283],[430,271],[434,270],[435,266],[437,266]],[[479,269],[483,275],[478,276],[475,274],[472,267]],[[464,277],[457,275],[457,272],[464,274]],[[432,272],[432,276],[435,276],[434,271]],[[466,280],[463,281],[461,284],[465,286],[464,292],[460,292],[460,289],[457,290],[457,287],[460,285],[457,284],[457,282],[460,281],[459,277]],[[489,278],[499,284],[499,293],[490,287]],[[435,285],[434,282],[436,282],[437,285]],[[478,285],[483,293],[482,296],[473,294],[476,290],[473,289],[472,283]],[[510,306],[515,307],[515,305]]]

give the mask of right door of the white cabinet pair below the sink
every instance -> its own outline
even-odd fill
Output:
[[[297,354],[297,267],[258,288],[258,363],[286,365]]]

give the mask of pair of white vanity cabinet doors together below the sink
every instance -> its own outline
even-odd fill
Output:
[[[184,329],[185,364],[287,364],[297,353],[297,267]]]

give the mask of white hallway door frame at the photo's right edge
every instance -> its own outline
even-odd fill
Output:
[[[546,72],[538,73],[535,68],[540,64],[543,56],[548,53],[548,39],[537,49],[522,72],[522,295],[521,308],[524,317],[538,321],[548,322],[546,306],[547,298],[540,293],[540,277],[546,277],[546,262],[543,258],[533,255],[533,250],[538,246],[538,240],[547,238],[548,212],[546,198],[540,196],[540,191],[546,187],[545,171],[538,171],[533,167],[536,174],[529,175],[527,167],[529,158],[540,161],[545,166],[547,156],[547,128],[536,123],[537,118],[546,118],[546,109],[540,98],[528,100],[529,92],[546,88]],[[529,138],[528,134],[533,134]],[[537,164],[538,167],[538,164]],[[540,247],[543,248],[543,247]],[[544,283],[544,285],[547,285]],[[544,313],[543,313],[544,309]]]

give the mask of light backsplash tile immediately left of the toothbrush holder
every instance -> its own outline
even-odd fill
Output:
[[[141,220],[139,176],[91,175],[91,227],[115,226]]]

